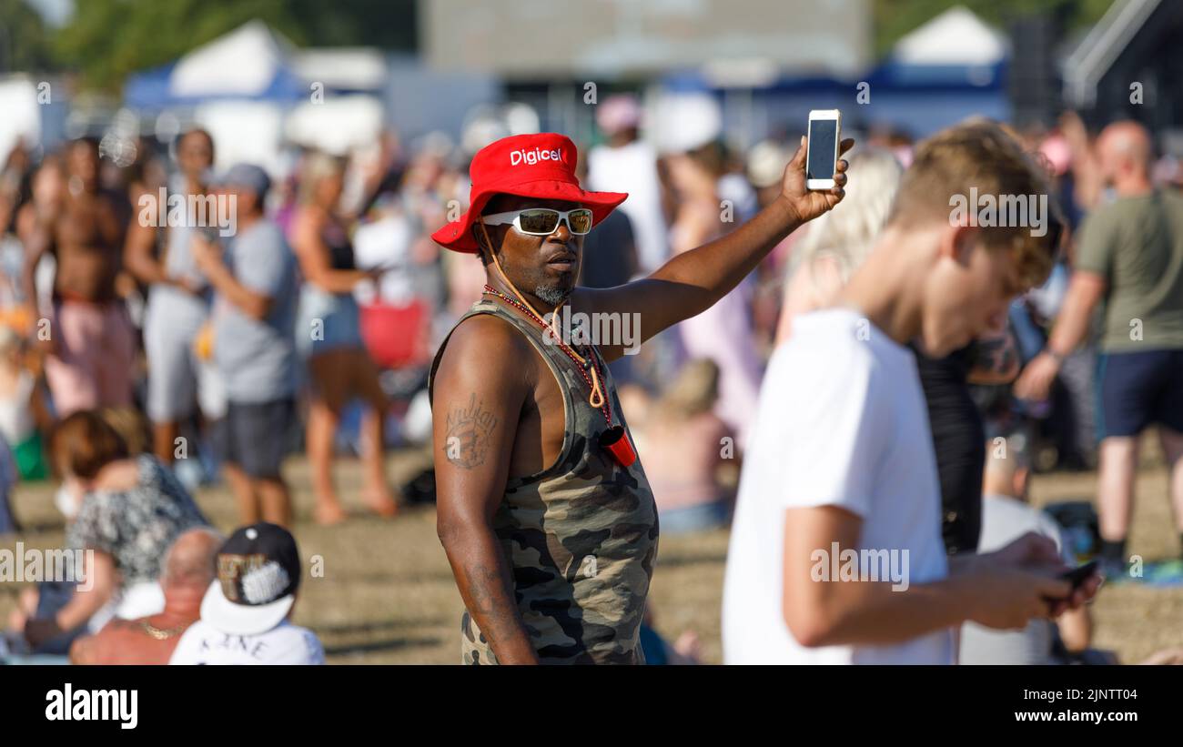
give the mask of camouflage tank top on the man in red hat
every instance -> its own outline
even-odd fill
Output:
[[[535,651],[547,664],[644,663],[639,634],[658,550],[658,515],[641,462],[620,467],[600,447],[599,435],[608,428],[603,414],[588,403],[590,392],[575,362],[547,344],[541,327],[490,299],[473,305],[460,323],[477,314],[504,319],[530,340],[565,404],[558,459],[539,473],[510,478],[493,518]],[[428,388],[446,345],[447,339],[435,353]],[[599,351],[594,355],[612,423],[626,426],[608,366]],[[464,663],[497,663],[467,611],[460,630]]]

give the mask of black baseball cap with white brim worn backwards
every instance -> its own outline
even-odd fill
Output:
[[[282,623],[299,589],[296,538],[274,524],[235,531],[218,551],[218,578],[201,600],[201,619],[228,634],[253,636]]]

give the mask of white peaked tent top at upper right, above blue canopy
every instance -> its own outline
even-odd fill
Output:
[[[1007,37],[964,6],[949,8],[901,38],[892,60],[905,65],[994,65],[1007,58]]]

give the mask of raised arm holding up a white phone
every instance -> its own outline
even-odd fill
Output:
[[[578,288],[573,308],[588,312],[636,313],[645,342],[683,319],[710,308],[743,280],[772,248],[802,223],[838,204],[845,190],[847,163],[840,160],[835,187],[828,191],[806,189],[806,138],[784,169],[780,196],[736,230],[672,258],[648,278],[615,288]],[[842,141],[841,152],[854,145]],[[601,345],[612,360],[622,345]]]

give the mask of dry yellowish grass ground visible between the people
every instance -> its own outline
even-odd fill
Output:
[[[394,454],[392,479],[401,482],[422,466],[421,455]],[[305,574],[295,619],[321,636],[329,662],[457,663],[461,603],[435,538],[434,511],[407,508],[393,520],[371,518],[357,499],[358,466],[342,461],[341,493],[354,515],[342,525],[321,527],[311,520],[306,462],[291,459],[286,474],[295,487],[300,554],[305,563],[319,556],[323,567],[323,577]],[[1036,505],[1088,500],[1095,483],[1094,473],[1039,475],[1033,481],[1032,500]],[[198,501],[220,530],[234,528],[234,504],[225,488],[202,489]],[[60,545],[62,518],[53,508],[49,486],[18,487],[13,504],[30,531],[0,539],[0,547],[14,547],[17,539],[26,547]],[[1178,557],[1178,535],[1172,527],[1165,470],[1148,463],[1138,478],[1130,552],[1146,560]],[[685,630],[696,631],[709,663],[722,660],[719,602],[726,550],[725,531],[662,537],[653,578],[651,602],[658,630],[670,639]],[[0,583],[0,621],[7,618],[20,587]],[[1093,605],[1093,616],[1095,645],[1117,651],[1123,662],[1183,647],[1183,587],[1108,585]]]

